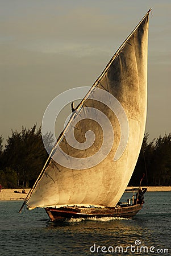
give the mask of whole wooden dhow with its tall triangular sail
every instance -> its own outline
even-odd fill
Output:
[[[74,109],[19,212],[27,205],[28,209],[44,208],[52,221],[80,217],[130,218],[143,207],[143,200],[139,199],[140,187],[136,199],[132,197],[127,203],[119,203],[119,200],[131,179],[145,131],[150,11]],[[100,117],[98,113],[94,114],[94,109],[102,113]],[[119,119],[123,110],[124,114]],[[92,113],[94,118],[89,118]],[[82,115],[85,118],[79,121]],[[99,119],[105,126],[105,134],[99,126]],[[108,121],[109,130],[106,128]],[[93,131],[94,143],[81,149],[70,145],[66,135],[70,136],[71,129],[80,144],[85,143],[86,132]],[[108,143],[100,152],[105,136]],[[110,150],[107,151],[109,144]],[[64,164],[61,164],[61,159]],[[78,166],[72,159],[78,159]]]

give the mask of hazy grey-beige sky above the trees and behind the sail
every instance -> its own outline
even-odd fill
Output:
[[[0,135],[40,126],[60,93],[91,86],[149,15],[149,139],[171,132],[170,0],[0,0]],[[61,126],[59,125],[60,129]]]

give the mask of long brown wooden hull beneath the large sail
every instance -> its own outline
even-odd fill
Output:
[[[131,218],[143,207],[143,204],[130,205],[125,207],[110,208],[86,208],[86,207],[47,207],[47,212],[51,221],[65,220],[69,218],[91,218],[91,217],[122,217]]]

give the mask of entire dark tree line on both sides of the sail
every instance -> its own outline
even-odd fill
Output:
[[[53,146],[51,134],[45,139]],[[143,174],[142,185],[171,185],[171,133],[148,142],[149,134],[144,135],[143,144],[129,185],[137,186]],[[36,124],[31,129],[12,131],[3,148],[0,136],[0,184],[3,188],[28,188],[35,183],[37,176],[48,158],[41,138],[41,127]]]

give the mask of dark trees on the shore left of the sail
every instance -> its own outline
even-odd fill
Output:
[[[49,147],[53,146],[52,135],[45,135]],[[0,137],[0,184],[3,188],[28,188],[34,185],[42,170],[48,153],[41,137],[41,127],[12,131],[5,149]]]

